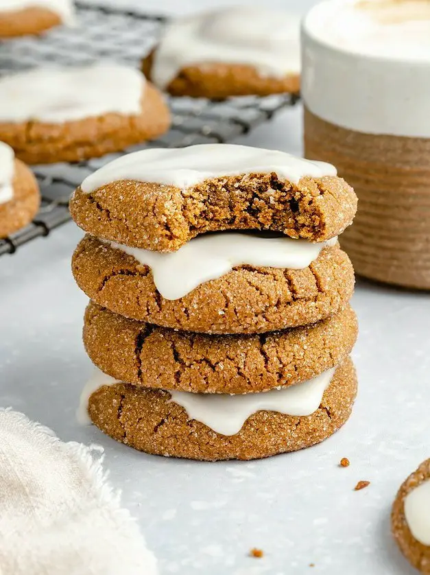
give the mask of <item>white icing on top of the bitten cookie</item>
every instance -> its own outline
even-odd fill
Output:
[[[278,150],[237,144],[200,144],[188,148],[140,150],[121,156],[85,178],[84,192],[117,180],[136,180],[187,188],[208,178],[275,172],[298,183],[303,176],[335,176],[334,166],[298,158]]]

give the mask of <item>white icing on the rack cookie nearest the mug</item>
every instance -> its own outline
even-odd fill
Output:
[[[165,88],[190,64],[249,64],[262,77],[300,73],[300,19],[289,12],[237,6],[167,26],[154,54],[152,80]]]

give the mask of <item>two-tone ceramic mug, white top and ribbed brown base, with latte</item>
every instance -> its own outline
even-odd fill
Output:
[[[359,197],[341,240],[357,274],[430,289],[430,0],[324,1],[302,60],[305,156]]]

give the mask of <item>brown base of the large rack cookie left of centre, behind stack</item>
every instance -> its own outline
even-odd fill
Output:
[[[104,156],[160,136],[170,114],[162,95],[147,82],[140,115],[109,113],[62,124],[27,121],[0,123],[0,140],[29,164],[77,162]]]

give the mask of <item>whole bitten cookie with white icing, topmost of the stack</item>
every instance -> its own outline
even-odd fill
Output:
[[[91,235],[145,250],[172,252],[201,233],[238,229],[324,242],[357,211],[353,188],[335,174],[243,145],[141,150],[88,176],[70,210]]]

